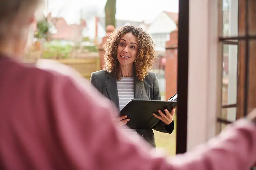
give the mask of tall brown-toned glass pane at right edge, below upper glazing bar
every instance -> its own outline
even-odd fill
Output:
[[[248,98],[247,98],[247,111],[250,112],[256,108],[256,40],[250,41],[249,44],[249,81],[248,81]],[[247,113],[248,113],[247,112]]]

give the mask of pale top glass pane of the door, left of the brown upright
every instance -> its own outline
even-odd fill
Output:
[[[223,36],[238,36],[238,0],[222,1]],[[244,35],[241,31],[239,35]]]

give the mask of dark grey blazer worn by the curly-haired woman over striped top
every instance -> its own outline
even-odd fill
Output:
[[[119,99],[117,92],[116,77],[105,70],[96,71],[91,74],[91,85],[97,88],[105,97],[110,99],[119,110]],[[147,100],[161,100],[158,80],[156,73],[148,72],[146,78],[141,82],[134,76],[134,98]],[[165,125],[159,121],[154,127],[154,130],[163,133],[172,133],[174,129],[174,122]],[[155,137],[152,129],[137,129],[138,134],[155,147]]]

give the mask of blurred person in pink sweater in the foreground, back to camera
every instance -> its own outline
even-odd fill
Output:
[[[115,108],[89,83],[80,86],[66,75],[20,64],[38,4],[0,1],[1,170],[242,170],[252,165],[255,110],[193,152],[167,160],[144,141],[125,136],[113,122]]]

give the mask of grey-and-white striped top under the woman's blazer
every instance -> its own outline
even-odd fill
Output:
[[[119,108],[121,111],[124,106],[134,98],[133,77],[122,77],[121,80],[117,80],[117,91],[119,98]]]

